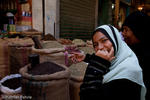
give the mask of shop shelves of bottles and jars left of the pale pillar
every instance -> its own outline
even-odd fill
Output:
[[[31,0],[0,0],[1,37],[32,29]]]

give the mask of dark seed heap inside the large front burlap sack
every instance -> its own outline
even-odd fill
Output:
[[[32,75],[45,75],[45,74],[53,74],[63,70],[65,70],[65,68],[53,62],[43,62],[31,68],[28,71],[28,73]]]

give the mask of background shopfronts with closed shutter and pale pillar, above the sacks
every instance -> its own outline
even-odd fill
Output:
[[[150,15],[150,0],[0,0],[0,33],[36,30],[55,38],[87,40],[98,25],[120,29],[136,10]]]

